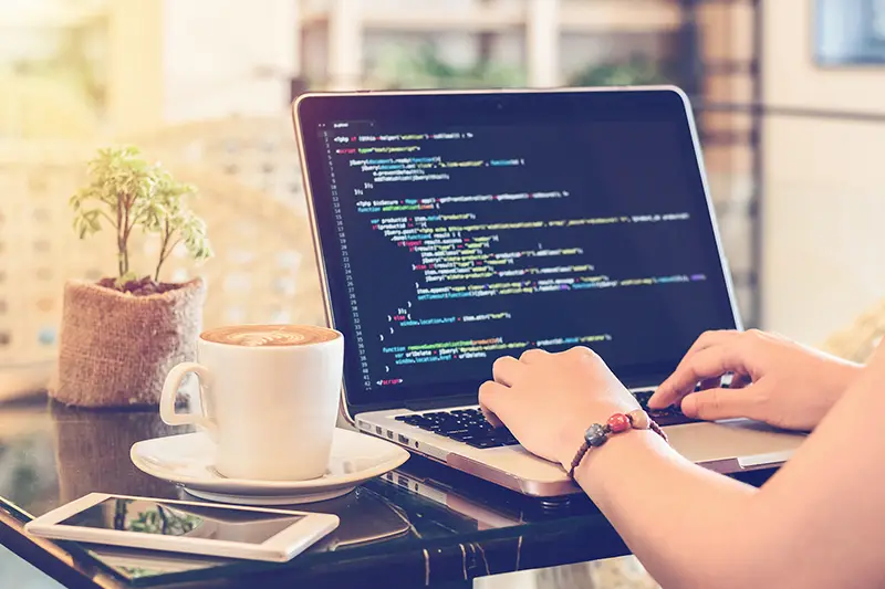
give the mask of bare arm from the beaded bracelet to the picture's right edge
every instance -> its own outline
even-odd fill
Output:
[[[885,587],[885,347],[761,490],[617,434],[576,478],[667,589]]]

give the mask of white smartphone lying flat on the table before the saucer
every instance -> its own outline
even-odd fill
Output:
[[[284,562],[337,525],[331,514],[91,493],[24,529],[60,540]]]

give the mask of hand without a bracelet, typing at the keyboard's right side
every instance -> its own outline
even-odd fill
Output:
[[[810,431],[853,382],[862,366],[756,329],[707,332],[648,407],[681,403],[687,417],[749,418],[778,428]],[[730,388],[721,377],[733,374]],[[698,383],[701,390],[695,391]]]

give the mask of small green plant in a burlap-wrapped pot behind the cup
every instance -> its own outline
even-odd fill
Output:
[[[194,360],[206,285],[160,282],[164,263],[183,246],[211,255],[206,225],[188,208],[196,189],[178,182],[134,147],[98,150],[88,179],[70,200],[80,238],[114,232],[115,276],[69,281],[64,288],[59,369],[50,395],[80,407],[155,406],[167,372]],[[136,232],[159,241],[150,274],[136,273]]]

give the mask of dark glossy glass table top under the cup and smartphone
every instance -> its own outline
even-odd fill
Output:
[[[129,460],[133,443],[186,431],[154,411],[76,410],[44,399],[0,404],[0,512],[23,524],[92,492],[199,501]],[[59,544],[110,579],[93,579],[97,587],[251,576],[311,586],[376,576],[407,587],[628,554],[582,495],[540,502],[418,457],[343,497],[291,508],[334,513],[341,524],[284,565]]]

